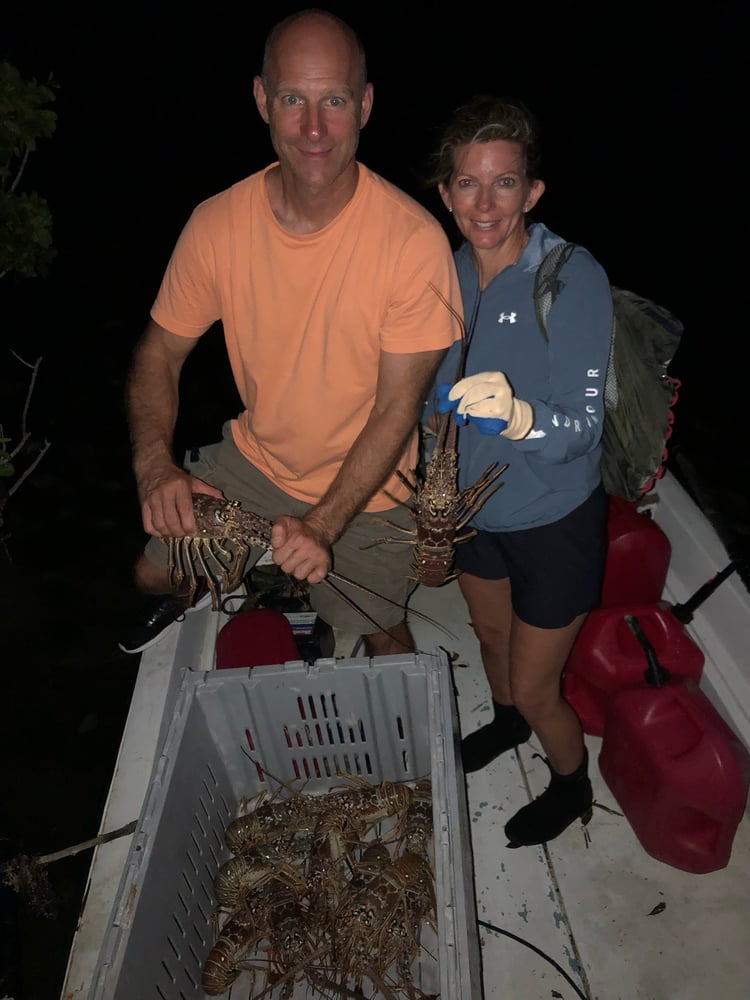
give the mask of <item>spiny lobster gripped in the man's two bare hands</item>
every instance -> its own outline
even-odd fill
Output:
[[[229,594],[239,585],[250,549],[253,546],[271,548],[272,522],[260,514],[243,510],[239,500],[222,500],[205,493],[193,494],[193,511],[198,526],[195,534],[162,539],[168,549],[169,580],[174,587],[187,581],[188,595],[192,598],[198,588],[198,577],[203,576],[215,611],[219,607],[219,594]],[[334,572],[330,572],[320,584],[334,590],[378,631],[386,631],[334,581],[367,593],[372,591]],[[381,596],[381,600],[387,601],[388,598]],[[443,625],[419,611],[409,609],[409,614],[447,632]]]

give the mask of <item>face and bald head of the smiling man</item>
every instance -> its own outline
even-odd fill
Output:
[[[300,186],[324,191],[353,169],[370,116],[357,52],[335,25],[302,22],[279,39],[267,75],[254,94],[279,162]]]

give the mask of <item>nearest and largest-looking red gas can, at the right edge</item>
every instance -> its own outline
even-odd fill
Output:
[[[694,681],[613,694],[599,769],[652,857],[694,874],[729,863],[750,754]]]

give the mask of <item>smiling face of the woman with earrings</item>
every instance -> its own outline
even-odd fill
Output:
[[[544,182],[527,180],[519,143],[497,139],[459,146],[453,177],[439,190],[469,243],[492,251],[523,240],[524,213],[542,196]]]

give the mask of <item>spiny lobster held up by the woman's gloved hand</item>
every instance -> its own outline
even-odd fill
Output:
[[[462,350],[456,374],[456,381],[463,377],[466,351],[469,337],[464,322],[446,300],[442,293],[430,283],[430,287],[440,297],[456,318],[461,328]],[[508,468],[507,463],[501,468],[497,462],[489,465],[473,486],[463,490],[458,489],[458,458],[456,454],[456,436],[458,428],[451,419],[452,412],[440,416],[435,434],[435,445],[432,456],[427,462],[423,481],[416,472],[414,482],[403,473],[397,475],[412,494],[413,506],[406,504],[414,514],[415,528],[408,532],[407,538],[380,538],[378,542],[403,542],[414,545],[412,567],[413,579],[425,587],[440,587],[454,579],[453,571],[456,545],[468,541],[476,531],[473,528],[461,532],[469,521],[477,514],[482,505],[500,489],[502,483],[490,487]],[[389,527],[398,529],[398,525],[385,522]],[[403,531],[403,529],[400,529]]]

